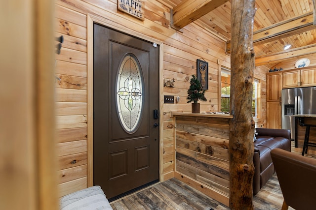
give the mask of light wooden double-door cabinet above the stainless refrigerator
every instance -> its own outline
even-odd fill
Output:
[[[300,69],[283,72],[283,88],[316,86],[316,69]]]

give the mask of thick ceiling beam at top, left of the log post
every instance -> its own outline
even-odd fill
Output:
[[[184,0],[173,8],[171,22],[176,28],[182,29],[227,1],[228,0]]]

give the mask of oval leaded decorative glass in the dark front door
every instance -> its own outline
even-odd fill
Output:
[[[127,133],[135,133],[143,108],[143,78],[137,58],[127,54],[119,65],[117,77],[119,121]]]

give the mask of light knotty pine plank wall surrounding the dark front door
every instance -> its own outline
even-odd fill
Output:
[[[163,129],[160,137],[162,167],[160,180],[174,176],[174,120],[171,111],[191,111],[186,96],[196,60],[208,62],[209,90],[202,111],[218,111],[218,60],[230,67],[225,41],[192,23],[179,32],[170,27],[170,8],[156,0],[145,3],[145,20],[140,21],[117,11],[117,0],[56,0],[55,35],[64,36],[61,54],[56,56],[56,106],[58,128],[59,190],[61,195],[87,187],[87,15],[128,31],[160,40],[163,44],[163,78],[174,79],[174,88],[164,87],[160,95],[180,96],[180,102],[161,104]],[[262,78],[264,97],[266,69],[257,70]],[[163,82],[163,81],[160,81]],[[265,98],[262,100],[265,100]],[[161,101],[161,100],[160,100]],[[265,105],[263,104],[263,112]],[[265,124],[265,114],[261,125]]]

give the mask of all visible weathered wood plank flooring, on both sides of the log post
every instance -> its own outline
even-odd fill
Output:
[[[299,153],[299,151],[292,151]],[[280,210],[283,196],[276,174],[253,197],[255,210]],[[114,210],[229,210],[175,178],[152,185],[110,203]],[[293,210],[291,207],[289,210]]]

